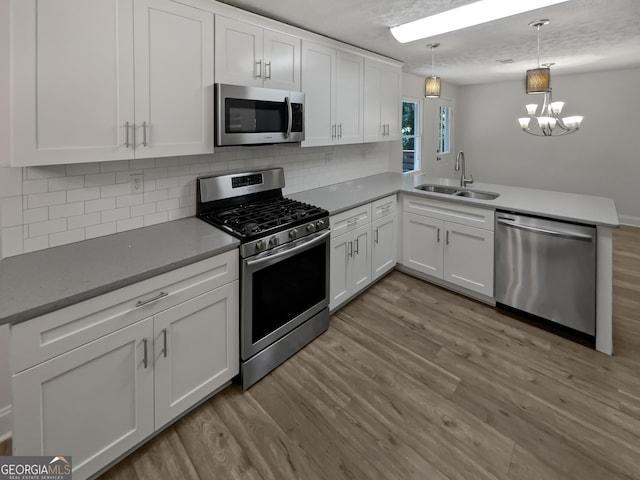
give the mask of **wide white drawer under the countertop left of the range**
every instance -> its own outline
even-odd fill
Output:
[[[238,251],[208,258],[19,323],[11,329],[14,373],[155,315],[238,278]]]

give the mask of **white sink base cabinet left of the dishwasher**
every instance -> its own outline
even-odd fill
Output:
[[[493,297],[492,210],[414,197],[403,210],[402,265]]]

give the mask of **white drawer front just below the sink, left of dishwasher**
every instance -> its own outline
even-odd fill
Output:
[[[403,211],[493,231],[495,212],[454,202],[405,196]]]

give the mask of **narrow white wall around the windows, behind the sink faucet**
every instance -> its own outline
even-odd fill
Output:
[[[442,82],[440,99],[424,98],[424,77],[405,73],[403,74],[402,91],[404,98],[420,99],[422,101],[422,169],[437,177],[456,178],[460,176],[453,170],[456,152],[456,118],[458,87]],[[451,153],[438,155],[438,117],[439,107],[448,105],[453,109],[451,118]]]

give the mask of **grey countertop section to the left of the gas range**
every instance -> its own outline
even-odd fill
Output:
[[[19,323],[237,248],[183,218],[0,261],[0,325]]]

